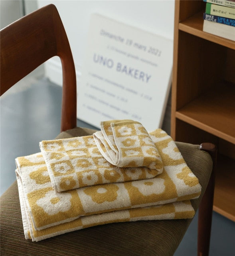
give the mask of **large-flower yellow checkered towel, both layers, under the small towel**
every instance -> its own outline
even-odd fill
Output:
[[[163,172],[154,178],[98,184],[66,192],[53,189],[41,153],[16,159],[26,238],[34,241],[98,224],[191,218],[190,199],[201,186],[166,132],[150,133],[162,158]]]

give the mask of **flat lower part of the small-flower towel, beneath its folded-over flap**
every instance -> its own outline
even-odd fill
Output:
[[[39,146],[53,188],[57,192],[96,184],[153,178],[163,168],[160,157],[154,169],[114,166],[103,158],[93,136],[44,140]]]

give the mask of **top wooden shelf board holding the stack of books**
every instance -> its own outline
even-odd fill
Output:
[[[235,50],[235,43],[233,40],[203,32],[203,12],[204,10],[201,10],[190,18],[180,22],[179,30]]]

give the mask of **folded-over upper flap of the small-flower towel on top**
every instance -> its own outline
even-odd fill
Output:
[[[101,131],[93,134],[103,157],[119,167],[147,166],[161,170],[162,160],[144,126],[132,120],[101,122]]]

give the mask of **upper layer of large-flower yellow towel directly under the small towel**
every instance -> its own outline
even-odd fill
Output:
[[[158,148],[164,170],[147,180],[99,184],[58,193],[53,190],[41,154],[17,158],[21,201],[30,216],[28,225],[32,223],[35,230],[42,230],[81,216],[197,198],[201,186],[172,138],[161,129],[151,132],[150,136]]]

